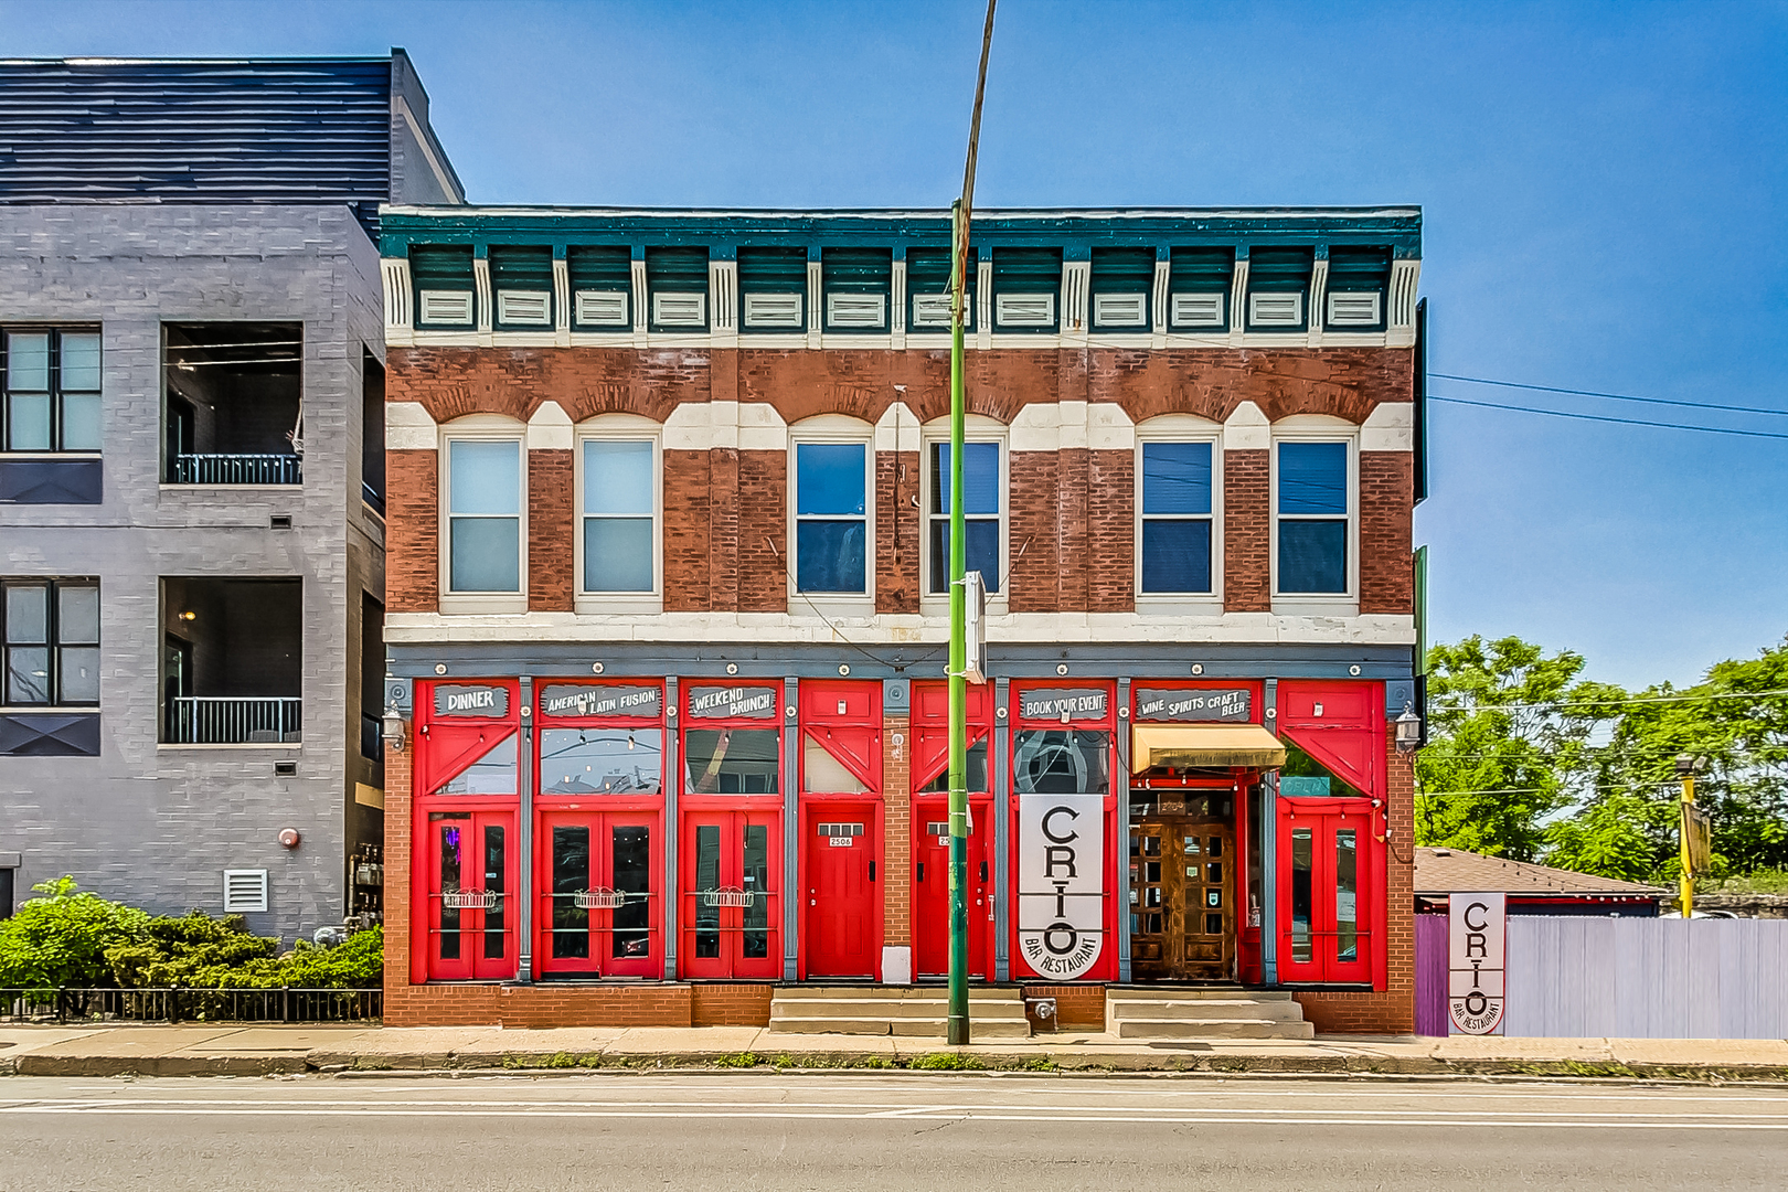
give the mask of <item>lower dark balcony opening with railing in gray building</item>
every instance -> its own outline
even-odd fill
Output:
[[[302,740],[302,579],[163,577],[163,743]]]

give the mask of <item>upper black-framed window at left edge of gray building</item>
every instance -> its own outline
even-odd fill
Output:
[[[0,447],[5,450],[98,450],[98,332],[5,332],[5,409],[0,413]]]

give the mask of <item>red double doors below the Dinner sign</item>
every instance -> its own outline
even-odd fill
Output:
[[[515,976],[515,815],[429,811],[427,974],[434,981]]]

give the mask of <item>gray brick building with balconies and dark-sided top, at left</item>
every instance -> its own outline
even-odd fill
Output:
[[[402,50],[14,61],[0,147],[0,913],[377,911],[375,236],[463,200],[427,95]]]

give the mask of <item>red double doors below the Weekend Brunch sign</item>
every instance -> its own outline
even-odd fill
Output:
[[[780,979],[780,811],[688,811],[681,849],[683,976]]]

